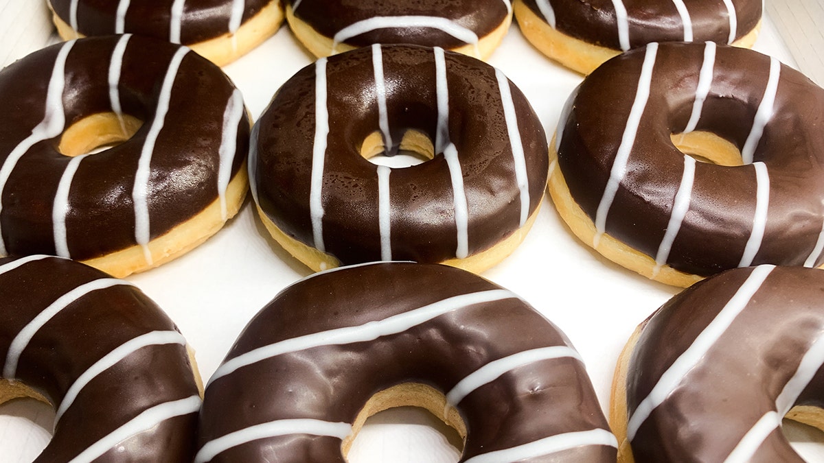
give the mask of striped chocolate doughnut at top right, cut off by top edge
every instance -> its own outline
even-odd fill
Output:
[[[761,30],[761,0],[515,0],[524,37],[541,53],[588,74],[650,42],[705,42],[751,48]]]

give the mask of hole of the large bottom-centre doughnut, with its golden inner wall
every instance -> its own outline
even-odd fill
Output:
[[[370,417],[373,418],[370,419]],[[382,439],[382,443],[378,445],[384,447],[386,440],[398,442],[400,443],[396,446],[398,455],[404,456],[409,456],[410,449],[424,447],[426,453],[420,454],[424,460],[433,456],[432,447],[434,446],[438,455],[444,455],[444,458],[438,461],[458,461],[460,459],[463,442],[466,440],[466,423],[461,419],[461,415],[454,407],[447,406],[446,397],[432,386],[405,383],[372,395],[372,398],[363,406],[352,425],[352,434],[346,437],[340,446],[347,461],[349,463],[367,461],[362,458],[362,455],[369,454],[369,446],[358,440],[358,433],[361,432],[364,424],[368,425],[368,428],[363,429],[363,434],[366,435],[373,433],[371,428],[373,424],[399,423],[399,421],[400,423],[425,425],[429,429],[421,433],[410,433],[408,432],[410,428],[399,426],[398,430],[382,433],[382,437],[386,439]],[[356,441],[358,442],[355,443]],[[350,456],[349,451],[353,447],[355,451]],[[448,458],[447,455],[454,456],[454,459]]]

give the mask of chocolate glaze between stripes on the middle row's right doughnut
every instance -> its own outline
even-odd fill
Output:
[[[649,99],[606,215],[606,233],[656,258],[685,171],[685,155],[672,145],[670,134],[683,132],[691,119],[707,47],[715,48],[712,82],[695,130],[716,133],[745,151],[752,138],[755,162],[733,167],[695,163],[689,208],[664,263],[702,276],[748,264],[821,265],[824,90],[765,55],[722,45],[658,46]],[[593,222],[651,49],[633,50],[593,72],[559,124],[558,166],[573,199]],[[777,92],[758,138],[752,128],[761,101],[771,96],[771,68]],[[769,179],[768,189],[761,181],[768,198],[761,202],[767,205],[765,222],[756,218],[761,167]],[[759,224],[765,227],[760,246]],[[757,252],[747,262],[750,241],[755,243],[750,250]]]

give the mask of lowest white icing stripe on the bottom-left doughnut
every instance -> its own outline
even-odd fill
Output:
[[[197,413],[199,409],[200,397],[197,395],[155,405],[150,409],[143,410],[141,414],[138,414],[138,416],[131,419],[128,423],[125,423],[123,426],[115,429],[101,440],[92,444],[91,447],[82,451],[80,455],[75,456],[68,463],[91,463],[91,461],[95,461],[106,451],[115,447],[119,442],[123,442],[129,437],[136,436],[139,433],[145,433],[167,419],[185,414],[194,414]]]

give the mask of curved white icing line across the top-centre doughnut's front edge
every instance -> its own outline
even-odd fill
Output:
[[[363,21],[354,22],[339,30],[332,37],[332,54],[337,53],[338,44],[371,30],[410,29],[414,27],[431,27],[441,30],[466,44],[475,45],[475,54],[480,56],[478,35],[475,32],[439,16],[373,16]]]

